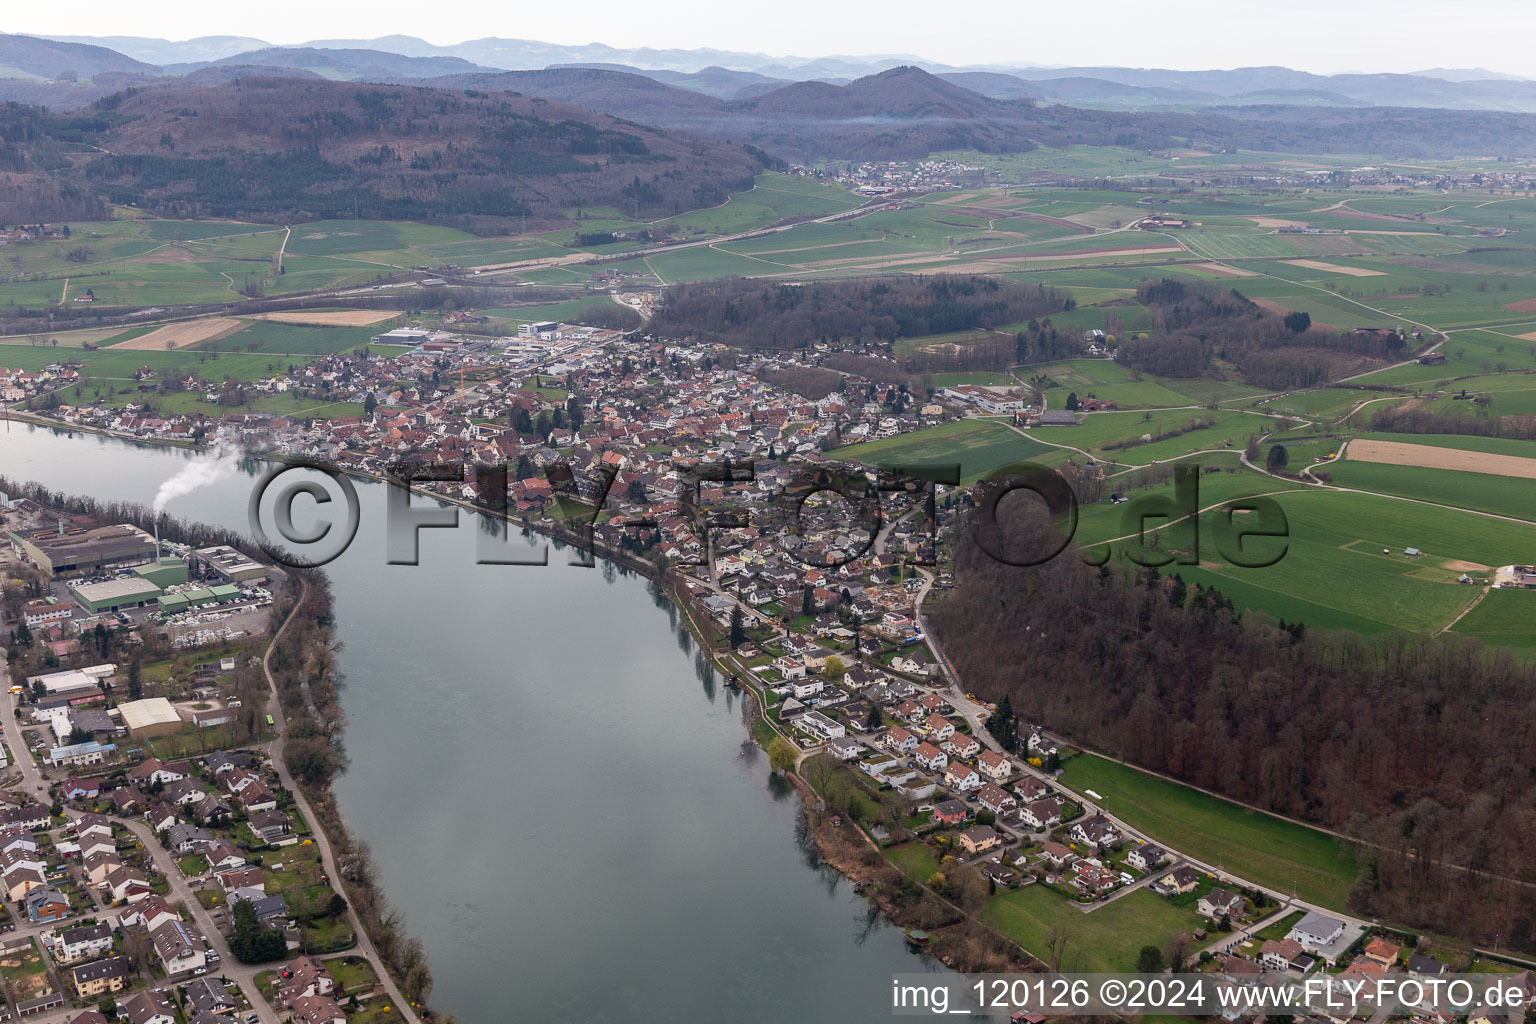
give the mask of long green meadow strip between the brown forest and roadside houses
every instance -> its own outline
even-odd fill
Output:
[[[1061,781],[1100,794],[1100,806],[1160,843],[1310,903],[1344,907],[1355,854],[1332,835],[1084,754]]]

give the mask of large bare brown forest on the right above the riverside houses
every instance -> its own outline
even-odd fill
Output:
[[[980,542],[1038,543],[1038,504],[977,505],[955,590],[932,608],[968,689],[1020,722],[1361,846],[1350,907],[1536,952],[1536,666],[1478,640],[1362,639],[1233,611],[1177,574],[1035,568]],[[1276,881],[1276,880],[1270,880]]]

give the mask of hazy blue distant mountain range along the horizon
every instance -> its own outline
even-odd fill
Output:
[[[1293,104],[1536,112],[1536,80],[1484,69],[1315,75],[1289,68],[957,68],[911,54],[770,57],[722,49],[614,48],[601,43],[562,46],[513,38],[433,46],[412,35],[386,35],[272,46],[235,35],[206,35],[178,43],[127,35],[61,35],[51,40],[0,35],[0,81],[52,81],[71,72],[75,78],[89,80],[103,72],[183,75],[207,66],[309,71],[347,81],[419,81],[472,72],[585,68],[637,74],[716,100],[751,100],[806,81],[848,84],[892,68],[911,66],[995,100],[1028,98],[1100,109]],[[15,84],[0,84],[0,98],[23,98],[14,95],[15,91]],[[61,91],[60,103],[78,101],[80,95],[80,89]],[[26,98],[31,100],[31,95]]]

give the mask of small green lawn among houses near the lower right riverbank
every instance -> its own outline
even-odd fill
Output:
[[[1068,933],[1061,970],[1135,970],[1143,946],[1161,947],[1174,932],[1193,933],[1198,913],[1170,904],[1149,889],[1107,903],[1091,913],[1044,886],[1025,886],[994,897],[982,920],[1040,958],[1052,927]]]

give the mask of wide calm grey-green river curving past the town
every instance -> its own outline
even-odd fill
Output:
[[[9,424],[0,473],[149,504],[190,454]],[[167,511],[246,530],[255,464]],[[462,1024],[889,1013],[902,933],[797,837],[742,699],[647,580],[475,563],[475,517],[387,565],[384,488],[335,583],[341,812]],[[538,540],[542,543],[542,539]],[[602,565],[602,563],[599,563]]]

